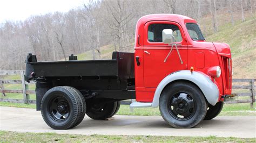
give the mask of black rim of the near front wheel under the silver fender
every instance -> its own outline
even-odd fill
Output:
[[[188,120],[196,111],[196,102],[186,92],[178,92],[169,99],[167,108],[172,117],[178,120]]]

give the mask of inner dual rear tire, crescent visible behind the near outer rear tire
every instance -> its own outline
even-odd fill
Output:
[[[69,88],[71,90],[73,90],[73,92],[75,92],[75,94],[79,95],[79,100],[82,102],[82,111],[79,112],[78,114],[78,119],[76,121],[76,123],[73,125],[73,127],[79,125],[83,119],[84,119],[84,116],[85,116],[85,113],[86,113],[86,103],[85,103],[85,99],[84,99],[84,96],[82,95],[82,93],[77,90],[76,88],[73,88],[73,87],[66,87],[66,88]]]

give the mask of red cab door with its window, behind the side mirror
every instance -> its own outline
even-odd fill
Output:
[[[162,42],[162,31],[172,29],[181,56],[181,63],[176,47],[164,62],[171,46]],[[157,88],[164,77],[178,70],[187,69],[187,42],[181,26],[175,22],[151,21],[144,26],[144,86]]]

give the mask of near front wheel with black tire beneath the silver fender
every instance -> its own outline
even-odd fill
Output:
[[[196,85],[180,81],[168,85],[161,93],[159,110],[172,127],[192,128],[204,119],[207,102]]]

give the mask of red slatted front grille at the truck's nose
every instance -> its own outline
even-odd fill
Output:
[[[222,60],[223,60],[223,68],[224,68],[223,76],[225,76],[225,89],[231,89],[232,88],[231,59],[223,56]]]

